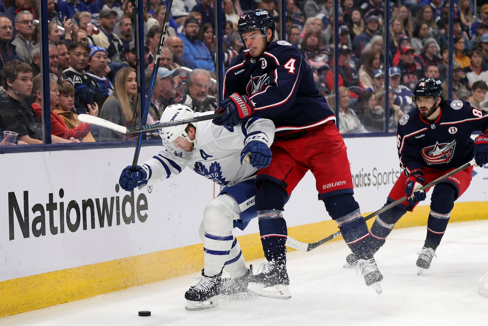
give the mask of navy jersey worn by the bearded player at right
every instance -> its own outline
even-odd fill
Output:
[[[427,166],[445,170],[469,162],[474,154],[473,131],[487,132],[488,114],[466,101],[441,103],[441,114],[433,123],[422,119],[417,107],[398,123],[397,146],[400,166],[408,175]]]

